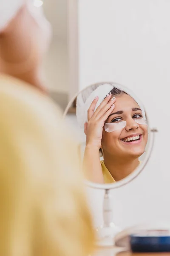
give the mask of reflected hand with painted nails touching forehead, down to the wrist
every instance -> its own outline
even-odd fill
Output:
[[[94,112],[98,97],[94,99],[88,109],[88,123],[85,123],[86,146],[94,146],[100,149],[102,141],[102,132],[105,121],[115,108],[115,97],[108,93],[99,107]]]

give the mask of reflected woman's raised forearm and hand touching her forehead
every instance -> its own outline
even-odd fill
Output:
[[[111,93],[108,93],[94,112],[98,99],[96,97],[88,109],[88,123],[85,123],[86,147],[83,168],[88,180],[103,184],[104,178],[99,158],[99,149],[102,142],[103,126],[115,108],[115,98]]]

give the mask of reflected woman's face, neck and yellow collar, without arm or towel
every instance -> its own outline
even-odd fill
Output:
[[[148,137],[147,125],[136,101],[116,88],[111,90],[111,95],[116,96],[115,107],[105,121],[101,140],[105,156],[102,173],[106,183],[121,180],[137,168]]]

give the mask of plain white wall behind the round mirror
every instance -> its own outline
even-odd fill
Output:
[[[170,218],[169,13],[167,0],[79,0],[79,89],[99,81],[124,84],[159,129],[144,172],[113,191],[114,218],[121,227]],[[98,225],[102,192],[88,193]]]

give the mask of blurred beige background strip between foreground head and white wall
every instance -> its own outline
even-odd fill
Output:
[[[43,64],[51,97],[64,110],[69,99],[68,0],[35,0],[42,4],[53,29],[53,38]]]

